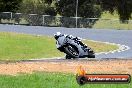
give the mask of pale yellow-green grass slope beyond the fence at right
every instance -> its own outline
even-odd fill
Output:
[[[120,23],[119,16],[116,12],[113,14],[110,14],[108,12],[104,12],[101,16],[101,19],[97,21],[93,28],[97,29],[127,29],[132,30],[132,21],[130,21],[128,24]]]

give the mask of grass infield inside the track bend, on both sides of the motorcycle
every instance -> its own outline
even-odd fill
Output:
[[[115,50],[118,47],[104,43],[85,41],[95,52]],[[56,49],[55,39],[18,33],[0,33],[0,60],[21,60],[59,57],[64,54]]]

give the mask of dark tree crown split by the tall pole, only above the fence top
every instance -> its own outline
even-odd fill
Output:
[[[62,16],[76,16],[76,0],[60,0],[56,3],[57,11]],[[78,16],[91,18],[100,17],[101,9],[95,0],[78,0]]]

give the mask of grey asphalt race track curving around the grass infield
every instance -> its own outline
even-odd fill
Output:
[[[89,29],[89,28],[63,28],[0,24],[1,32],[17,32],[35,35],[53,36],[56,32],[71,34],[85,39],[117,43],[129,46],[130,49],[123,52],[97,55],[96,58],[131,58],[132,57],[132,30],[113,29]]]

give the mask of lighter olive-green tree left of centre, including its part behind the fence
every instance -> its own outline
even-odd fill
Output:
[[[46,0],[24,0],[20,6],[20,13],[29,25],[44,25],[42,15],[56,15],[55,8]],[[45,18],[46,19],[46,18]]]

